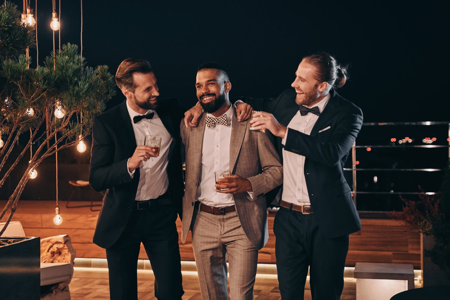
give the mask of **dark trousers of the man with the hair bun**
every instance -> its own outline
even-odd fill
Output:
[[[344,288],[348,235],[325,237],[314,214],[303,215],[284,207],[275,216],[274,233],[281,299],[303,300],[309,266],[312,299],[339,300]]]

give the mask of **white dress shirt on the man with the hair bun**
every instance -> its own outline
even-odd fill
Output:
[[[314,106],[319,107],[319,112],[324,111],[325,105],[327,105],[330,94],[319,103]],[[311,107],[309,107],[311,108]],[[288,128],[303,132],[304,134],[311,134],[311,130],[315,125],[315,122],[319,119],[313,113],[308,113],[305,116],[300,114],[300,111],[295,114],[292,120],[288,124]],[[288,137],[288,130],[282,140],[283,145]],[[295,154],[283,149],[283,201],[293,203],[296,205],[308,205],[311,204],[308,188],[306,187],[306,179],[304,174],[305,169],[305,157],[303,155]]]

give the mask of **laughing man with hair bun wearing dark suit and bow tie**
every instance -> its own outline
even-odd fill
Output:
[[[277,99],[244,99],[250,121],[277,137],[284,182],[274,223],[279,290],[283,300],[303,299],[308,266],[311,296],[340,299],[348,235],[361,229],[343,167],[359,133],[359,107],[336,93],[345,68],[327,53],[303,58]]]

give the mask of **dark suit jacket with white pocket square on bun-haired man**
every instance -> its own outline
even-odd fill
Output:
[[[280,157],[283,148],[305,156],[304,174],[314,217],[327,237],[339,237],[361,229],[361,221],[344,178],[344,163],[359,133],[363,114],[359,107],[330,91],[331,98],[311,134],[288,129],[285,145],[275,140]],[[295,90],[285,90],[277,99],[242,97],[255,110],[272,113],[284,126],[298,111]],[[320,130],[329,129],[319,132]]]

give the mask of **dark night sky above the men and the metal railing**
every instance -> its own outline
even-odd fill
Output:
[[[22,9],[22,1],[13,2]],[[83,56],[92,67],[108,65],[113,74],[124,58],[146,58],[161,96],[178,97],[190,107],[200,63],[215,60],[228,69],[231,97],[276,97],[290,88],[301,58],[323,50],[351,64],[351,80],[338,92],[362,108],[365,122],[449,121],[444,5],[85,0]],[[37,10],[42,61],[52,50],[50,1],[38,1]],[[62,0],[61,14],[62,44],[80,45],[80,2]],[[108,107],[124,99],[117,91]]]

